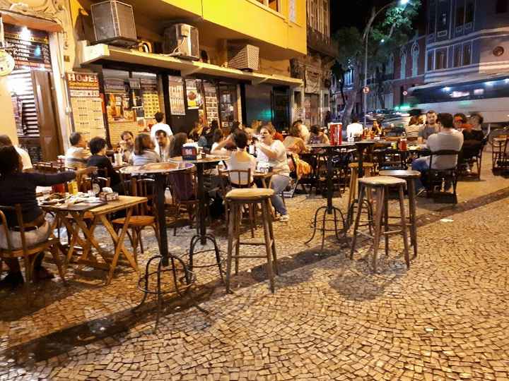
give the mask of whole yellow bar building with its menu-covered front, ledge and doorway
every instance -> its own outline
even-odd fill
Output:
[[[122,2],[133,7],[131,17],[116,4],[131,46],[97,41],[90,9],[97,1],[0,0],[8,42],[24,48],[1,80],[1,111],[11,138],[35,146],[33,161],[56,159],[73,131],[115,147],[122,131],[150,128],[156,111],[175,132],[214,119],[291,122],[293,88],[303,80],[291,77],[290,60],[307,54],[305,0]],[[95,27],[115,32],[107,20]],[[180,40],[169,49],[175,33]],[[188,41],[192,56],[180,54]]]

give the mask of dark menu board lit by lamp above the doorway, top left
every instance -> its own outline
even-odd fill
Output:
[[[13,48],[16,68],[51,69],[47,32],[9,24],[4,25],[4,30],[6,43]]]

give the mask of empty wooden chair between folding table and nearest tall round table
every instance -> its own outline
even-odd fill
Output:
[[[145,197],[147,202],[137,205],[134,209],[134,215],[129,219],[128,225],[131,228],[131,235],[129,239],[133,248],[134,258],[137,259],[136,248],[140,246],[141,253],[144,253],[143,241],[141,240],[141,231],[147,226],[154,229],[156,238],[159,241],[159,231],[157,227],[157,211],[155,207],[154,193],[156,191],[155,181],[153,179],[144,179],[131,177],[131,191],[132,196]],[[112,221],[115,231],[124,226],[126,223],[125,217],[120,217]]]

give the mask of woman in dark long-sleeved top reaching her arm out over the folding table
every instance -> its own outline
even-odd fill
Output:
[[[61,172],[59,174],[38,174],[36,172],[23,172],[23,162],[13,146],[0,148],[0,205],[13,207],[21,204],[23,224],[27,226],[25,240],[28,247],[35,246],[47,240],[51,233],[51,226],[45,220],[45,215],[37,204],[35,188],[37,186],[52,186],[66,183],[81,176],[96,171],[95,167],[78,169],[77,171]],[[9,229],[18,225],[16,213],[4,210]],[[30,226],[30,227],[28,227]],[[11,238],[13,248],[21,248],[21,235],[16,231],[4,231],[0,225],[0,248],[8,248],[6,234]],[[35,260],[34,280],[52,277],[42,267],[44,253],[40,253]],[[0,288],[14,288],[23,284],[23,275],[17,258],[4,258],[8,265],[7,276],[0,281]],[[28,281],[29,279],[27,279]]]

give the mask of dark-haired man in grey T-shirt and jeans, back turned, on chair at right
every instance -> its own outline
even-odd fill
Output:
[[[439,133],[434,133],[428,137],[426,145],[431,152],[440,150],[454,150],[459,151],[463,145],[463,135],[456,131],[452,124],[451,114],[438,114],[438,127]],[[424,174],[430,168],[430,157],[419,157],[412,162],[412,169]],[[457,157],[451,155],[441,155],[433,157],[433,169],[450,169],[457,164]],[[450,184],[446,184],[445,191],[450,188]],[[416,180],[416,192],[420,195],[425,190],[423,183],[420,179]]]

